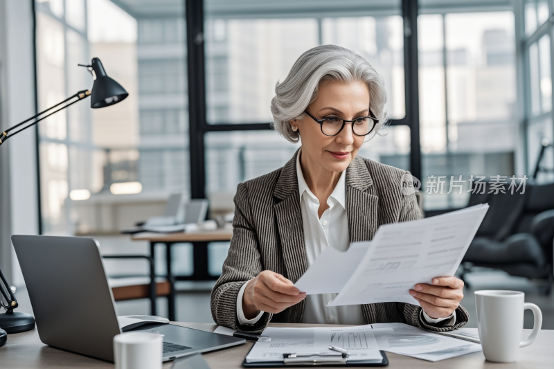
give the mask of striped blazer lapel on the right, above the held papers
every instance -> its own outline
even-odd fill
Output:
[[[377,231],[379,197],[364,160],[356,156],[346,169],[346,213],[350,242],[368,241]]]

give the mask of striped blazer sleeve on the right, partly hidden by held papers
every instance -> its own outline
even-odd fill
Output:
[[[418,206],[418,201],[417,199],[415,199],[415,193],[402,196],[404,196],[404,206],[402,207],[402,213],[400,214],[400,219],[398,219],[398,222],[407,222],[410,220],[421,219],[421,212]],[[458,308],[456,308],[456,322],[454,323],[454,325],[443,327],[443,322],[436,323],[436,325],[434,325],[432,323],[427,323],[427,321],[425,320],[422,320],[420,318],[420,312],[422,310],[420,306],[405,303],[398,304],[400,309],[402,309],[404,313],[404,318],[406,318],[406,322],[410,325],[420,327],[424,330],[446,332],[449,330],[455,330],[459,327],[463,327],[463,325],[466,325],[467,322],[470,321],[470,313],[468,313],[462,305],[459,305]]]

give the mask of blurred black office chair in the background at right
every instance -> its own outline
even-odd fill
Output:
[[[545,280],[551,293],[554,246],[554,183],[527,185],[525,193],[472,194],[470,204],[488,202],[489,211],[462,262],[465,274],[472,267],[501,269],[511,276]],[[519,191],[521,192],[521,190]]]

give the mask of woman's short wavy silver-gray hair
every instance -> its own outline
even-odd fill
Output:
[[[383,78],[369,64],[366,58],[348,48],[323,45],[310,48],[292,66],[287,78],[275,85],[275,97],[271,100],[273,127],[281,136],[297,143],[300,134],[294,132],[290,120],[305,117],[305,109],[317,98],[319,86],[327,81],[355,82],[367,84],[369,109],[379,119],[370,134],[379,133],[386,125],[386,91]]]

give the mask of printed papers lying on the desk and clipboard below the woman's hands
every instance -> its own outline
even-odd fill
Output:
[[[384,361],[380,350],[427,361],[439,361],[482,350],[479,343],[454,339],[402,323],[356,327],[267,327],[263,336],[267,339],[253,345],[245,359],[246,363],[290,364],[328,358],[328,363],[377,366]],[[348,354],[342,362],[341,352]]]

